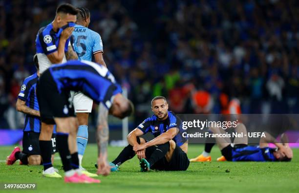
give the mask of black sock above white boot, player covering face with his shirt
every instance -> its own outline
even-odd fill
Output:
[[[53,167],[51,162],[52,156],[52,141],[41,141],[40,140],[41,156],[43,159],[43,171]]]

